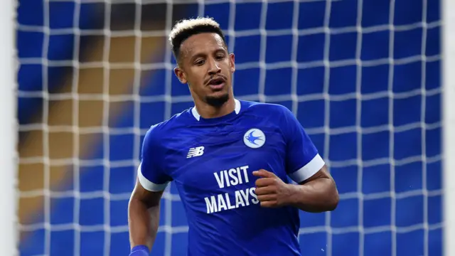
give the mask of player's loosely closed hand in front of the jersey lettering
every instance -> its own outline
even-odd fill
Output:
[[[256,195],[262,207],[277,208],[287,204],[290,196],[289,184],[270,171],[253,171],[256,180]]]

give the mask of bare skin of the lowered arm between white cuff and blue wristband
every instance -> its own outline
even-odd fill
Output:
[[[137,199],[128,206],[129,240],[131,247],[146,245],[151,250],[159,225],[159,204],[148,207]]]

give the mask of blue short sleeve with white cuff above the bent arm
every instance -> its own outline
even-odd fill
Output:
[[[287,174],[296,183],[301,183],[316,174],[326,163],[299,120],[290,110],[283,108]]]

